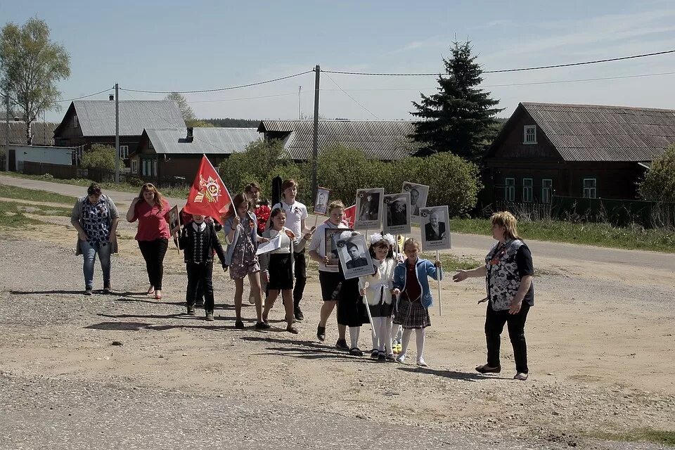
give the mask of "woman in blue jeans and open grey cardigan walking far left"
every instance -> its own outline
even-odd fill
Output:
[[[113,200],[101,193],[101,186],[98,184],[92,183],[86,194],[77,199],[70,215],[70,223],[77,230],[75,255],[84,256],[84,295],[91,295],[94,290],[94,263],[97,254],[103,271],[103,290],[108,293],[112,290],[110,255],[117,253],[115,232],[120,214]]]

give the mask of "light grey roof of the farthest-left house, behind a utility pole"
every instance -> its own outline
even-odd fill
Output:
[[[114,101],[76,100],[72,105],[84,136],[115,136]],[[120,101],[120,136],[141,136],[146,128],[181,127],[185,121],[175,101]]]

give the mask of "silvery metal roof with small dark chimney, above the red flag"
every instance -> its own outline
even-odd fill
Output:
[[[186,140],[187,129],[146,129],[155,152],[184,155],[230,155],[243,152],[246,146],[262,136],[255,128],[195,128],[193,141]]]

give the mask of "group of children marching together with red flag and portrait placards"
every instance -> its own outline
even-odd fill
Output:
[[[250,186],[257,188],[250,184],[247,191]],[[404,257],[394,251],[394,236],[373,233],[369,248],[373,274],[346,279],[340,266],[327,265],[330,259],[326,255],[325,242],[326,229],[344,229],[337,232],[350,235],[356,233],[345,223],[345,205],[340,200],[331,202],[328,219],[316,230],[314,227],[308,229],[305,224],[307,207],[295,200],[297,183],[286,180],[281,188],[283,201],[271,207],[262,233],[259,233],[258,218],[254,214],[255,196],[238,194],[233,198],[229,217],[222,226],[230,243],[227,252],[219,242],[214,221],[195,214],[192,221],[184,225],[177,239],[179,248],[184,250],[188,275],[187,313],[195,314],[195,301],[202,292],[206,320],[213,320],[212,269],[214,255],[218,255],[221,265],[224,269],[229,268],[230,278],[235,282],[236,328],[244,328],[241,317],[243,281],[248,277],[257,314],[255,328],[270,327],[269,313],[281,293],[286,330],[297,334],[295,323],[303,319],[300,299],[307,278],[304,259],[307,248],[309,257],[319,263],[323,305],[316,336],[320,341],[326,340],[326,322],[337,306],[339,339],[336,347],[362,356],[359,334],[361,326],[370,321],[371,358],[403,363],[415,330],[417,364],[427,366],[423,356],[425,328],[431,325],[428,309],[432,306],[428,277],[442,277],[441,263],[421,259],[420,243],[416,239],[405,240]],[[275,238],[280,240],[278,248],[256,255],[259,243]],[[263,291],[266,293],[264,303]]]

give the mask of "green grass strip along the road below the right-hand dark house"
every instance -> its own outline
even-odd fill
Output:
[[[491,236],[487,219],[452,219],[450,229],[455,233]],[[567,221],[520,221],[518,233],[524,239],[596,245],[626,250],[675,252],[675,231],[623,227],[609,224],[576,224]]]

